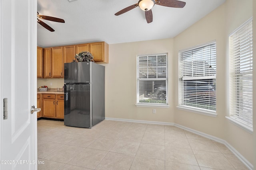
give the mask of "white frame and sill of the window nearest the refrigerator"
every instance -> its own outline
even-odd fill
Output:
[[[140,57],[151,57],[151,56],[162,56],[166,57],[166,78],[139,78],[139,58]],[[168,53],[157,53],[157,54],[146,54],[146,55],[137,55],[136,57],[136,107],[169,107],[168,104]],[[166,81],[166,103],[142,103],[140,101],[140,87],[139,81],[142,80],[165,80]]]

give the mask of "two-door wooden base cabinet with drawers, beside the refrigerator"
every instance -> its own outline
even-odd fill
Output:
[[[42,94],[42,117],[64,119],[64,94]]]

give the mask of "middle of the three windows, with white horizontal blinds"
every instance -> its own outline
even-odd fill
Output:
[[[179,52],[179,106],[216,115],[216,42]]]

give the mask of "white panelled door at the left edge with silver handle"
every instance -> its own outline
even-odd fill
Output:
[[[0,0],[0,169],[37,169],[36,0]],[[8,119],[3,100],[8,99]]]

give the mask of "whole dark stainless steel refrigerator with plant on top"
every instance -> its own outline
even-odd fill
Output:
[[[105,66],[64,64],[64,125],[89,127],[105,119]]]

